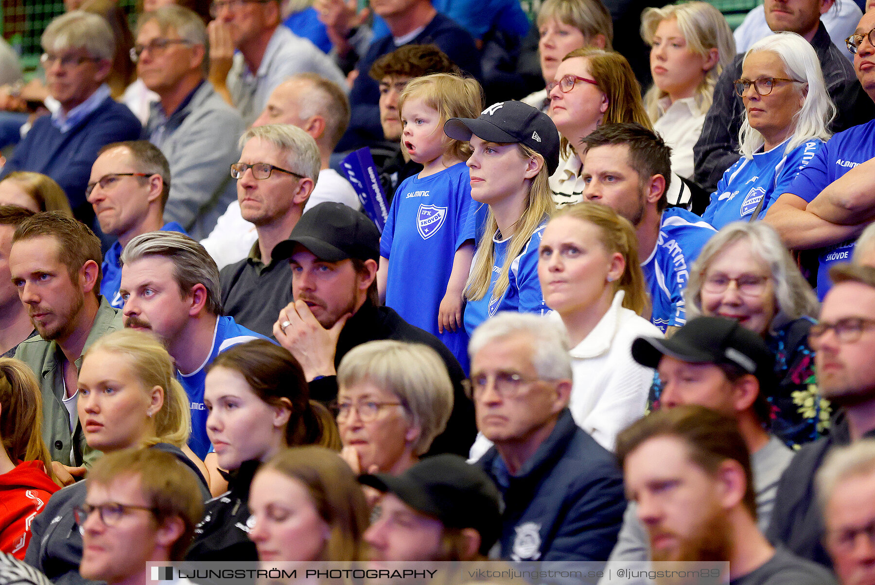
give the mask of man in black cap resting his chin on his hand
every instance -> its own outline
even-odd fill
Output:
[[[273,334],[304,368],[311,398],[337,397],[337,366],[361,343],[423,343],[446,363],[454,393],[450,421],[430,453],[467,455],[475,426],[473,405],[462,389],[465,372],[437,337],[379,306],[380,232],[374,222],[342,203],[319,203],[301,216],[288,240],[276,244],[273,256],[289,258],[294,298],[280,311]]]

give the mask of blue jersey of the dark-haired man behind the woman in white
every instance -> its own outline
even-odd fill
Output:
[[[653,313],[650,322],[663,333],[687,322],[683,291],[696,261],[715,229],[698,215],[683,208],[662,212],[659,237],[650,257],[641,263],[648,283]]]

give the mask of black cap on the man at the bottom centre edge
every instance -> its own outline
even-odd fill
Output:
[[[473,528],[486,554],[501,528],[500,495],[482,469],[458,455],[426,457],[400,476],[387,473],[359,476],[375,490],[391,492],[416,511],[433,516],[449,528]]]

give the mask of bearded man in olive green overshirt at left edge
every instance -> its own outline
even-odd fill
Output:
[[[98,293],[101,261],[94,232],[59,212],[33,215],[12,236],[12,284],[39,334],[21,342],[15,356],[39,381],[43,440],[63,483],[83,476],[82,464],[100,455],[88,448],[76,414],[82,354],[122,328],[122,315]]]

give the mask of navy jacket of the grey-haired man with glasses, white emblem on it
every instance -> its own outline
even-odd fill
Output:
[[[504,498],[502,559],[607,559],[626,511],[623,474],[567,408],[518,475],[494,447],[478,463]]]

